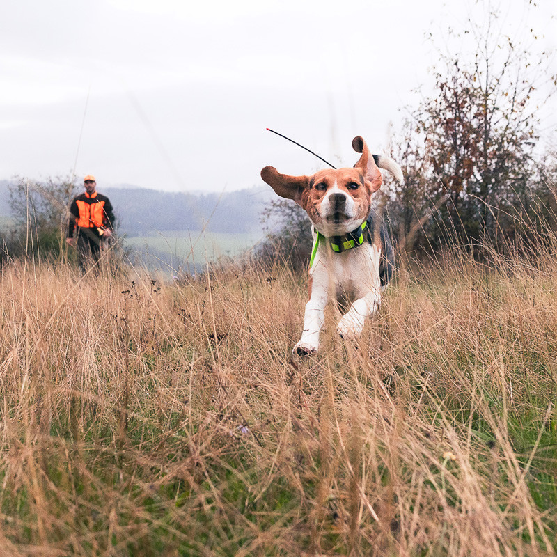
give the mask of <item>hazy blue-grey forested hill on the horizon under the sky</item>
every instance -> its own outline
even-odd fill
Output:
[[[10,217],[9,180],[0,180],[0,217]],[[257,233],[260,214],[274,198],[268,187],[224,194],[186,194],[139,187],[100,188],[109,196],[120,233],[138,236],[153,230],[205,230],[212,233]]]

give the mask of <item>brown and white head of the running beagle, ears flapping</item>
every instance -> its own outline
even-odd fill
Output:
[[[312,176],[289,176],[278,173],[273,166],[265,166],[261,178],[278,196],[301,205],[320,233],[326,236],[347,234],[366,220],[371,196],[382,184],[381,172],[361,136],[354,137],[352,147],[361,152],[354,168],[331,168]]]

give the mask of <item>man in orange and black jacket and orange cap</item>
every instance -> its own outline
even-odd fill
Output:
[[[84,273],[100,258],[104,242],[112,237],[114,213],[107,196],[97,193],[95,176],[84,178],[85,191],[70,205],[70,224],[66,242],[77,247],[79,270]]]

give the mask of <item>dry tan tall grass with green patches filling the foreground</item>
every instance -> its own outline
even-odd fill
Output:
[[[554,554],[556,276],[455,250],[292,361],[284,267],[5,266],[1,554]]]

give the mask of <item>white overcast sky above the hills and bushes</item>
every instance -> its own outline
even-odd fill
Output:
[[[555,47],[557,4],[506,0],[514,37]],[[375,152],[398,110],[431,78],[441,37],[473,0],[3,0],[0,179],[13,175],[231,191],[272,164],[311,173],[317,159]],[[477,14],[476,14],[477,15]],[[547,125],[547,134],[555,126]]]

